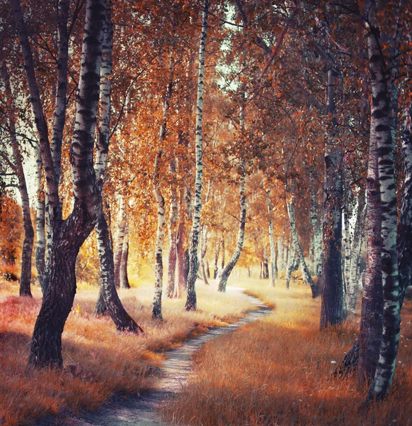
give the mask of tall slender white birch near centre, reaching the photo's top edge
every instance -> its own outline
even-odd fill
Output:
[[[196,290],[197,278],[197,244],[199,241],[200,212],[202,209],[202,121],[203,121],[203,87],[205,77],[205,45],[207,34],[207,13],[209,10],[209,0],[205,0],[202,13],[202,34],[199,45],[199,75],[197,79],[197,108],[196,108],[196,177],[195,177],[195,202],[193,205],[193,224],[190,235],[189,251],[189,273],[186,285],[187,299],[185,310],[196,310]]]

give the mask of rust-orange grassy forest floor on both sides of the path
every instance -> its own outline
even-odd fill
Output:
[[[80,285],[63,334],[65,368],[56,372],[26,368],[40,290],[33,288],[33,300],[22,299],[16,296],[17,285],[0,281],[0,425],[30,425],[46,415],[52,420],[48,424],[60,424],[65,416],[97,410],[109,400],[123,409],[124,422],[116,425],[139,424],[133,415],[139,398],[134,397],[161,383],[163,351],[181,346],[207,327],[235,322],[253,308],[239,292],[221,294],[214,285],[198,283],[198,312],[185,312],[184,298],[165,297],[164,321],[157,322],[151,320],[153,283],[137,284],[120,295],[147,336],[118,333],[109,318],[94,317],[98,289]],[[165,424],[412,425],[410,300],[403,307],[391,394],[384,403],[365,409],[367,389],[357,376],[333,375],[357,334],[359,315],[319,332],[320,299],[313,300],[300,280],[293,280],[290,290],[283,280],[276,288],[270,288],[268,280],[232,278],[232,285],[242,285],[275,310],[195,349],[199,354],[193,373],[187,383],[179,383],[180,393],[168,395],[162,404]],[[166,396],[158,395],[161,400]],[[148,410],[153,412],[153,405]],[[153,418],[148,424],[156,424]]]

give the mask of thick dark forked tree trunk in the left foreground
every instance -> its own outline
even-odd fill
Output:
[[[86,6],[85,37],[70,155],[75,203],[72,213],[64,221],[61,218],[58,182],[23,13],[18,0],[11,0],[11,4],[31,93],[31,106],[46,175],[50,223],[53,227],[53,244],[45,273],[46,290],[34,327],[28,362],[32,366],[61,367],[61,337],[76,292],[77,254],[100,214],[101,196],[93,168],[93,136],[99,99],[102,26],[106,18],[106,4],[104,0],[88,0]]]

